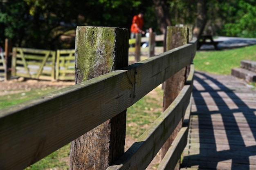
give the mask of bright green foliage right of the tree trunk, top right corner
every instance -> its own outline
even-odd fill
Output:
[[[256,38],[255,15],[255,0],[210,0],[206,28],[214,35]]]

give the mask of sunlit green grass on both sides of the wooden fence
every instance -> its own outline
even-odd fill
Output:
[[[146,57],[141,58],[141,60],[144,59]],[[131,60],[134,60],[134,58]],[[240,66],[241,60],[256,60],[256,45],[222,51],[198,51],[194,59],[194,64],[196,70],[229,75],[231,68]],[[57,89],[34,89],[26,92],[26,95],[23,96],[22,94],[24,92],[2,95],[0,108],[39,97],[55,90]],[[127,109],[126,137],[135,140],[162,113],[162,94],[162,88],[158,87]],[[68,170],[69,151],[70,144],[67,144],[34,165],[26,168],[26,170]]]

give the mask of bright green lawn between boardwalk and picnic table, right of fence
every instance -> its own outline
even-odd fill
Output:
[[[256,45],[221,51],[197,51],[195,69],[219,75],[230,75],[241,60],[256,60]]]

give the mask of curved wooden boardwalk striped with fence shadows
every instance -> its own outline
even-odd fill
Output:
[[[195,72],[182,170],[256,170],[256,91],[232,76]]]

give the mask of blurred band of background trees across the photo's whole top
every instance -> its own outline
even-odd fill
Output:
[[[0,45],[8,38],[13,46],[74,48],[76,25],[130,29],[141,10],[144,30],[151,26],[157,34],[192,24],[200,34],[256,38],[256,0],[0,0]],[[198,23],[198,10],[205,23]]]

